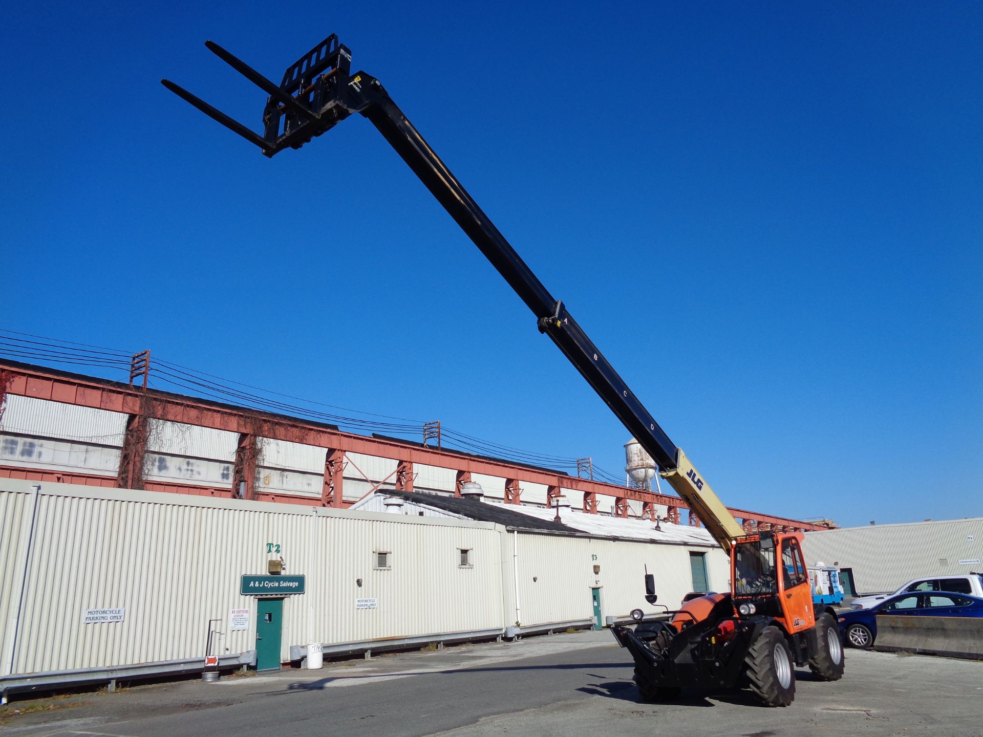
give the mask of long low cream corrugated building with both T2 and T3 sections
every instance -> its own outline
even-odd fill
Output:
[[[306,590],[273,597],[282,621],[260,667],[312,642],[340,652],[600,624],[652,610],[646,566],[675,606],[693,588],[693,555],[708,560],[712,586],[728,585],[709,536],[680,539],[702,531],[614,539],[470,503],[516,524],[0,480],[0,691],[38,674],[201,663],[209,632],[220,633],[212,654],[256,662],[266,599],[240,586],[270,560]]]

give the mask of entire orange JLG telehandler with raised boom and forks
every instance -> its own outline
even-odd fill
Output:
[[[635,660],[635,682],[646,700],[673,698],[681,688],[747,686],[770,707],[790,704],[794,665],[821,680],[843,672],[843,650],[832,609],[814,604],[800,533],[745,535],[726,507],[617,372],[498,232],[375,77],[351,71],[351,51],[328,36],[287,68],[279,85],[212,41],[205,46],[268,96],[262,135],[168,80],[162,84],[205,115],[272,157],[300,148],[353,113],[370,122],[434,198],[492,262],[536,315],[546,333],[587,379],[625,428],[658,464],[660,474],[730,556],[729,594],[687,601],[677,611],[612,628]],[[655,577],[645,597],[655,603]]]

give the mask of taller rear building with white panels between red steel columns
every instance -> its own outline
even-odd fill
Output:
[[[0,478],[333,508],[379,488],[456,494],[478,482],[516,505],[547,507],[563,495],[595,516],[699,526],[676,496],[584,475],[0,361]],[[731,512],[748,529],[813,527]]]

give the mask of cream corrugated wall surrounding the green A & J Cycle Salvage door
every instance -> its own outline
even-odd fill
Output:
[[[0,480],[5,625],[19,594],[29,488]],[[209,619],[226,633],[218,652],[253,650],[255,613],[248,631],[230,632],[228,620],[232,608],[256,611],[253,597],[239,595],[239,580],[265,572],[267,542],[280,544],[285,572],[307,575],[311,592],[284,602],[284,660],[312,635],[333,643],[499,627],[495,526],[392,517],[42,483],[12,672],[202,656]],[[458,566],[462,547],[473,550],[472,567]],[[392,553],[391,570],[374,568],[380,549]],[[356,610],[355,598],[377,598],[378,607]],[[93,608],[125,608],[125,619],[84,624]],[[9,629],[0,652],[11,645]]]

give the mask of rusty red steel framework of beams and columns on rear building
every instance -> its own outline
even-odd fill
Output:
[[[390,474],[389,479],[394,477],[393,485],[406,491],[414,489],[416,478],[413,471],[414,464],[421,464],[454,470],[456,472],[455,494],[457,496],[460,496],[461,486],[471,481],[472,474],[483,474],[505,480],[505,501],[512,504],[521,503],[522,483],[540,483],[547,486],[548,504],[550,506],[554,499],[561,495],[561,488],[569,489],[583,494],[582,509],[589,514],[598,513],[599,494],[614,498],[614,515],[617,517],[629,516],[629,501],[642,502],[643,518],[653,521],[657,519],[656,505],[665,506],[667,509],[665,521],[675,524],[678,524],[680,520],[679,510],[688,509],[682,499],[669,494],[642,491],[612,483],[551,473],[546,469],[517,466],[504,460],[474,457],[433,447],[425,448],[410,442],[403,444],[387,438],[342,432],[299,418],[270,415],[247,408],[210,403],[197,397],[145,389],[108,379],[63,373],[42,367],[9,365],[3,362],[0,362],[0,376],[5,378],[2,383],[6,387],[6,394],[126,413],[130,416],[128,432],[131,431],[131,425],[134,425],[132,433],[136,437],[133,442],[141,446],[141,457],[146,442],[145,422],[149,419],[211,427],[236,432],[239,435],[233,482],[228,487],[192,486],[179,482],[150,482],[143,479],[138,481],[135,476],[141,471],[142,464],[136,463],[125,469],[125,475],[121,473],[117,478],[85,473],[23,469],[12,466],[0,466],[0,478],[84,483],[110,487],[126,486],[129,488],[142,484],[143,488],[151,491],[174,491],[224,497],[239,496],[240,487],[244,485],[245,493],[243,495],[247,499],[337,508],[349,506],[343,496],[344,469],[348,464],[346,454],[361,453],[395,460],[397,468],[393,474]],[[262,437],[316,445],[325,449],[323,486],[319,499],[317,497],[263,492],[256,489],[256,465],[260,453],[258,429],[260,428]],[[383,482],[385,481],[387,480],[383,480]],[[376,484],[376,487],[381,483]],[[742,509],[729,508],[729,511],[749,531],[826,529],[821,525]],[[699,526],[699,520],[695,515],[688,516],[690,525]]]

